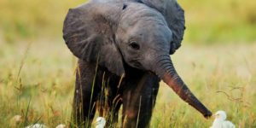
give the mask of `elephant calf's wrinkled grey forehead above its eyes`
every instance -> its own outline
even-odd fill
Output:
[[[165,18],[155,9],[148,8],[142,3],[127,4],[119,20],[119,27],[129,32],[129,35],[142,35],[142,38],[147,40],[152,40],[152,37],[168,42],[172,39],[172,32]]]

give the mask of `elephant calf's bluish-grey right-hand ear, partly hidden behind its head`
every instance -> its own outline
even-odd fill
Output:
[[[151,8],[157,9],[164,15],[169,28],[172,30],[170,54],[181,46],[185,30],[184,10],[177,0],[139,0]]]

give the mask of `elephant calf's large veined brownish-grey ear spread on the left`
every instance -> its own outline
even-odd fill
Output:
[[[86,3],[69,9],[63,25],[63,38],[73,55],[84,61],[98,62],[119,76],[125,69],[113,28],[121,9],[117,4]]]

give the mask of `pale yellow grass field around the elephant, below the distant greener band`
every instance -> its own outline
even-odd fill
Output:
[[[0,127],[35,122],[68,124],[76,59],[62,40],[0,43]],[[256,44],[183,44],[172,60],[189,88],[212,112],[224,110],[236,127],[256,127]],[[25,118],[26,117],[26,118]],[[204,119],[166,84],[154,109],[151,127],[205,128]]]

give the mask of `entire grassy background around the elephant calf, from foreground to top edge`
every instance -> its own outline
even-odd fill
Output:
[[[84,2],[0,0],[0,127],[70,123],[77,59],[62,26],[68,9]],[[177,73],[213,113],[224,110],[236,127],[256,127],[256,1],[178,3],[187,29],[172,55]],[[161,83],[151,127],[201,128],[212,120]]]

